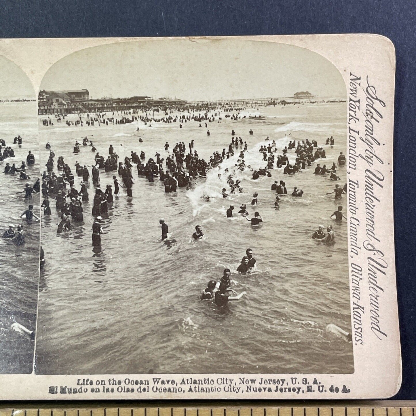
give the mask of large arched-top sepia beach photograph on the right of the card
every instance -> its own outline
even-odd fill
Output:
[[[31,104],[6,139],[23,137],[19,169]],[[54,63],[29,181],[35,374],[354,373],[346,114],[339,69],[285,43],[129,40]],[[17,175],[4,230],[28,209]]]

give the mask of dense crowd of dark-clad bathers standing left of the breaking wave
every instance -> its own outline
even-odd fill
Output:
[[[139,139],[139,142],[142,140]],[[92,178],[94,186],[94,200],[92,207],[92,215],[94,223],[92,225],[92,244],[94,246],[101,245],[101,235],[104,233],[101,224],[103,219],[108,217],[109,204],[114,200],[114,196],[118,196],[120,188],[126,189],[127,197],[132,197],[133,173],[132,169],[136,165],[137,175],[144,177],[149,182],[154,182],[156,178],[163,183],[166,193],[177,192],[178,188],[188,189],[192,181],[198,177],[206,177],[207,171],[213,166],[218,166],[225,158],[229,158],[234,154],[234,147],[242,146],[241,139],[232,139],[228,151],[223,149],[222,154],[214,152],[210,157],[210,161],[206,162],[203,158],[199,158],[198,152],[194,149],[194,141],[189,143],[189,152],[186,151],[184,142],[178,142],[173,146],[172,152],[169,152],[169,144],[166,142],[164,149],[168,152],[166,158],[162,158],[161,154],[156,152],[154,157],[146,160],[144,151],[137,154],[130,152],[130,157],[126,156],[124,161],[119,161],[113,145],[109,146],[108,156],[104,157],[97,152],[91,140],[84,137],[82,143],[76,141],[74,144],[73,154],[79,154],[82,149],[91,149],[95,152],[94,162],[91,165],[82,166],[78,161],[75,163],[75,174],[82,177],[80,189],[75,187],[74,173],[71,167],[65,163],[64,156],[58,156],[55,170],[55,153],[51,150],[48,142],[46,149],[50,151],[49,158],[46,163],[47,170],[42,175],[42,196],[43,215],[52,215],[50,208],[50,198],[55,200],[55,206],[59,213],[59,223],[57,223],[57,233],[70,231],[72,227],[84,220],[83,203],[89,201],[87,183]],[[245,143],[244,149],[247,149]],[[242,149],[243,152],[243,149]],[[91,173],[89,171],[91,168]],[[107,184],[105,188],[100,186],[100,170],[105,172],[118,173],[121,178],[119,183],[117,176],[113,175],[114,194],[111,184]],[[238,185],[235,184],[235,186]],[[111,206],[110,206],[111,208]]]

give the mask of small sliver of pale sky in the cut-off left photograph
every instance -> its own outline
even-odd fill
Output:
[[[26,74],[14,62],[0,55],[0,99],[35,98]]]

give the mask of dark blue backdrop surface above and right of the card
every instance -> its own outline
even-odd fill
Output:
[[[394,214],[403,383],[395,399],[416,399],[414,0],[0,1],[0,37],[309,33],[377,33],[396,47]]]

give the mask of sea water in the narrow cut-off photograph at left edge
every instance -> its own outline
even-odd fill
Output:
[[[22,191],[25,182],[33,185],[39,177],[37,133],[36,102],[0,103],[0,138],[15,151],[14,158],[0,163],[0,233],[2,235],[10,223],[16,226],[23,223],[26,233],[22,246],[0,238],[0,373],[3,374],[31,373],[33,366],[35,342],[10,327],[14,320],[31,331],[36,327],[40,223],[27,224],[20,215],[32,203],[34,212],[40,216],[39,194],[29,201],[25,200],[25,193],[17,192]],[[19,134],[23,138],[21,147],[13,144],[14,137]],[[16,163],[20,168],[29,150],[36,160],[35,165],[26,170],[30,180],[19,179],[18,173],[16,176],[3,173],[7,162]]]

